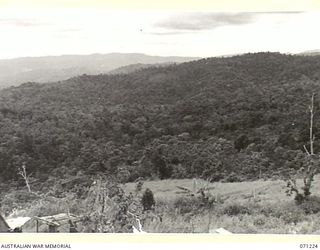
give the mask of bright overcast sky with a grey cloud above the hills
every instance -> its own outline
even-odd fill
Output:
[[[320,49],[319,12],[0,9],[0,58],[137,52],[210,57]]]

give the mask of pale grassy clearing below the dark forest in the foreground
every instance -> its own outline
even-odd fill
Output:
[[[213,187],[211,193],[223,202],[202,212],[180,213],[174,204],[184,195],[177,193],[176,186],[191,190]],[[162,222],[144,221],[144,228],[148,232],[166,233],[207,233],[223,227],[233,233],[320,234],[319,213],[305,214],[294,204],[293,197],[286,196],[285,186],[280,180],[210,184],[192,179],[147,181],[143,190],[150,188],[154,192],[163,218]],[[127,183],[124,189],[134,193],[135,183]],[[312,191],[313,195],[320,195],[320,176],[315,178]],[[244,207],[250,213],[228,215],[226,210],[233,205]]]

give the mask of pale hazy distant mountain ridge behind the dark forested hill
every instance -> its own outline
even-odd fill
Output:
[[[182,63],[194,57],[161,57],[139,53],[62,55],[0,60],[0,87],[24,82],[52,82],[82,74],[107,73],[130,64]]]

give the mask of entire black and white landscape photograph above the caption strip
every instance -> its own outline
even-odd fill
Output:
[[[319,24],[0,5],[0,232],[320,235]]]

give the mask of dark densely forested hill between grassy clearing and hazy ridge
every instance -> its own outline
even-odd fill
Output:
[[[97,173],[280,178],[303,162],[319,78],[320,56],[255,53],[11,87],[0,93],[0,181],[24,185],[23,163],[42,188]]]

